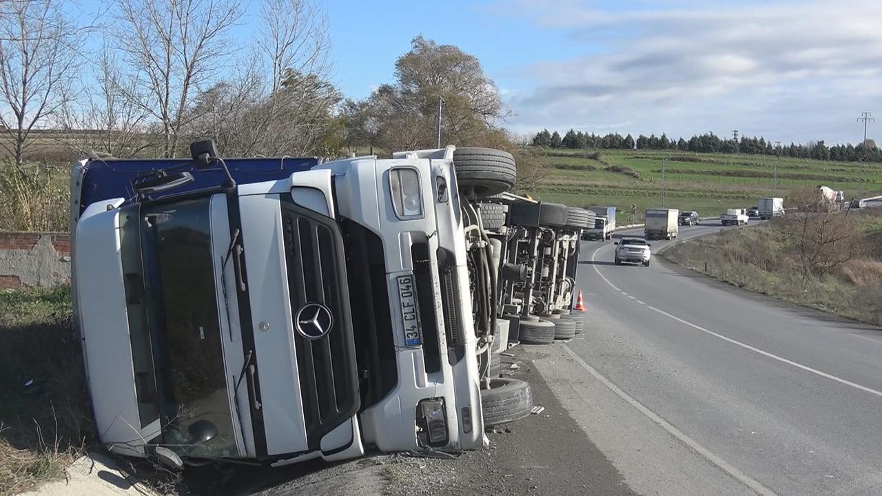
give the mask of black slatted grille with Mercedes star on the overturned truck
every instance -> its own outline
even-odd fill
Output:
[[[360,407],[343,242],[335,222],[289,199],[281,202],[281,221],[306,437],[314,450]],[[333,316],[318,339],[297,329],[297,312],[306,304],[324,304]]]

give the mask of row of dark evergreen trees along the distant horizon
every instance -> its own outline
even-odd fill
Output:
[[[824,141],[811,142],[805,145],[773,146],[771,141],[764,138],[747,138],[743,136],[739,141],[735,139],[723,139],[713,132],[692,136],[690,139],[672,139],[667,134],[662,136],[650,134],[648,137],[640,134],[635,140],[631,134],[622,136],[612,133],[598,136],[593,132],[576,132],[572,129],[561,138],[560,134],[549,132],[547,129],[537,132],[533,137],[533,145],[536,147],[550,148],[602,148],[632,150],[676,150],[681,152],[698,152],[705,154],[766,154],[779,155],[816,160],[834,160],[844,162],[882,162],[882,151],[876,144],[868,139],[866,143],[854,146],[833,145],[827,147]]]

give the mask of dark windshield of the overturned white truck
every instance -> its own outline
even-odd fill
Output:
[[[161,436],[151,442],[180,455],[215,458],[238,452],[218,318],[209,201],[134,206],[140,208],[140,257],[123,259],[134,259],[140,267],[123,268],[130,281],[143,280],[145,292],[138,312],[130,308],[129,319],[131,329],[147,334],[139,342],[152,348],[144,353],[132,347],[133,356],[152,357],[146,368],[154,371],[148,374],[153,384],[136,384],[138,402],[152,400],[159,413]]]

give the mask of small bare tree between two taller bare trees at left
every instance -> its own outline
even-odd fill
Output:
[[[100,57],[97,74],[88,77],[82,97],[64,101],[59,139],[80,156],[92,151],[135,156],[153,145],[146,132],[146,110],[126,96],[137,92],[138,80],[123,77],[108,47]]]

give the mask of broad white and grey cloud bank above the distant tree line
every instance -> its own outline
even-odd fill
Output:
[[[848,124],[882,103],[882,3],[592,5],[491,7],[585,46],[584,56],[516,69],[533,88],[506,95],[517,131],[633,122],[625,131],[855,141]]]

